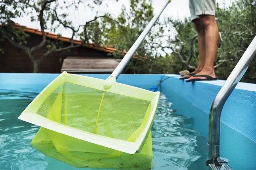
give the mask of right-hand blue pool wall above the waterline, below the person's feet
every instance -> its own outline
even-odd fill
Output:
[[[170,78],[166,79],[167,77]],[[208,114],[215,96],[225,82],[186,82],[172,74],[164,75],[163,79],[166,80],[161,83],[161,88],[166,94],[175,92]],[[256,84],[238,83],[223,107],[221,122],[256,142]],[[208,134],[208,127],[205,131]]]

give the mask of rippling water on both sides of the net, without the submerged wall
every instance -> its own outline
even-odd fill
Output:
[[[0,170],[77,170],[30,145],[39,127],[17,119],[38,94],[27,91],[0,91]],[[155,170],[187,170],[201,156],[195,149],[201,133],[187,127],[193,123],[189,117],[176,112],[173,103],[161,94],[152,127]]]

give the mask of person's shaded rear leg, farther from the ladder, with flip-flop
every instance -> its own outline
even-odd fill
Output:
[[[205,62],[205,31],[204,27],[201,24],[199,19],[195,19],[192,21],[195,24],[195,29],[198,32],[198,50],[199,50],[199,62],[198,67],[195,71],[192,73],[199,73],[204,68],[204,62]],[[180,79],[186,79],[191,77],[190,75],[185,75],[183,77],[180,77]]]

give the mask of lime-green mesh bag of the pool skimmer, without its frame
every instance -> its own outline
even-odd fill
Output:
[[[36,114],[88,133],[135,142],[146,125],[151,101],[64,82]],[[74,167],[151,169],[151,131],[140,153],[133,155],[41,127],[32,140],[45,155]]]

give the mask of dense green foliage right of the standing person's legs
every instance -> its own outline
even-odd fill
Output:
[[[217,9],[218,28],[223,41],[217,60],[228,60],[216,68],[221,79],[227,79],[256,35],[256,0],[238,0],[230,7]],[[242,82],[256,83],[256,62],[245,73]]]

